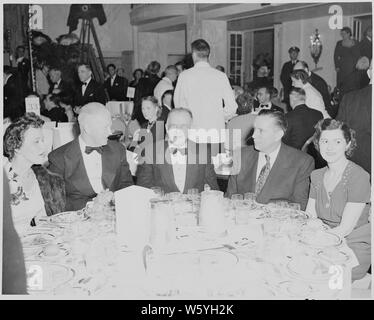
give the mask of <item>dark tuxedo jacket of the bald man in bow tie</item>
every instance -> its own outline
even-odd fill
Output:
[[[49,170],[65,180],[66,210],[79,210],[96,196],[84,167],[78,138],[53,150],[48,155]],[[104,189],[117,191],[133,184],[125,148],[116,141],[108,141],[102,154]]]

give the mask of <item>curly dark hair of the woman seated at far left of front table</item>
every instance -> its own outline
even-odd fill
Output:
[[[44,124],[39,116],[33,112],[25,113],[9,125],[4,134],[4,153],[12,160],[15,151],[22,147],[25,132],[29,128],[41,128]]]

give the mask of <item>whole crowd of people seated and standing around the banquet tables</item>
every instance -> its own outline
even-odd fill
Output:
[[[298,203],[347,239],[359,261],[352,279],[364,277],[371,263],[371,84],[352,87],[334,110],[326,82],[297,59],[296,47],[283,67],[283,97],[261,83],[233,89],[224,70],[210,65],[210,46],[203,39],[191,44],[191,52],[193,66],[167,66],[162,77],[157,61],[144,72],[136,69],[132,81],[110,64],[105,84],[93,79],[89,65],[79,64],[78,88],[64,82],[58,66],[43,66],[40,76],[47,76],[48,91],[38,86],[44,91],[33,94],[44,104],[44,118],[13,113],[25,96],[21,86],[4,94],[4,116],[11,118],[4,170],[17,232],[37,225],[42,216],[82,209],[106,189],[137,184],[164,192],[202,192],[205,185],[217,190],[222,186],[211,158],[228,152],[233,169],[222,190],[227,197],[251,192],[259,203]],[[339,54],[335,60],[344,60]],[[338,78],[346,79],[345,63],[339,63]],[[371,78],[371,63],[367,71]],[[16,78],[9,72],[5,67],[5,87]],[[338,81],[343,92],[344,83]],[[125,119],[121,140],[108,140],[112,117],[105,103],[125,100],[127,87],[135,88],[131,119]],[[47,154],[42,126],[50,120],[77,121],[80,134]],[[241,130],[240,141],[232,142],[235,129]],[[138,156],[134,177],[126,149]]]

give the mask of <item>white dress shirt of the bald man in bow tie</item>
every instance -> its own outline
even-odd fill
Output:
[[[92,189],[96,193],[100,193],[104,190],[102,183],[102,159],[101,154],[97,151],[92,151],[90,154],[85,152],[87,144],[83,141],[81,136],[79,136],[79,146],[82,152],[84,167],[86,168],[88,180],[92,186]]]

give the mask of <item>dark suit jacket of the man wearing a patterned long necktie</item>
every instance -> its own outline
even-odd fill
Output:
[[[255,192],[258,156],[259,152],[253,146],[242,148],[241,157],[234,160],[234,168],[237,170],[240,166],[240,172],[229,178],[228,197],[235,193]],[[257,202],[289,200],[300,203],[301,209],[305,210],[313,169],[314,160],[310,155],[282,143]]]

